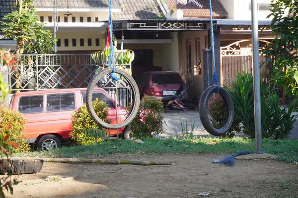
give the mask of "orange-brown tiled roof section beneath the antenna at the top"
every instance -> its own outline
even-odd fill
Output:
[[[183,17],[210,18],[209,0],[196,1],[203,5],[202,9],[197,7],[192,2],[187,2],[186,5],[178,3],[176,8],[182,9]],[[172,9],[175,7],[176,0],[166,0],[166,4],[169,9]],[[213,18],[227,18],[228,16],[228,13],[224,9],[224,6],[220,0],[212,0],[212,11]]]

